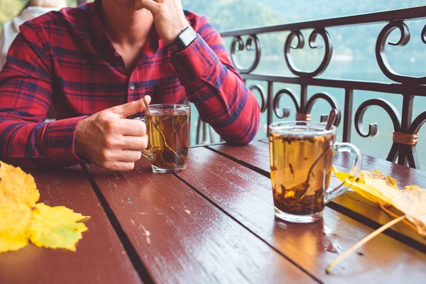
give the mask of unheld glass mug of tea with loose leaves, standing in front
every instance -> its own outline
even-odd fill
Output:
[[[341,195],[343,184],[329,188],[334,153],[349,152],[361,169],[361,153],[351,143],[336,142],[336,127],[310,121],[278,122],[269,126],[269,154],[275,216],[308,223],[322,217],[324,204]]]

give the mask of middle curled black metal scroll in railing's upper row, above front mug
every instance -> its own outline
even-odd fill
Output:
[[[325,53],[320,66],[317,67],[317,69],[313,72],[302,71],[297,68],[290,54],[291,49],[302,49],[305,45],[305,39],[303,38],[302,33],[300,31],[292,31],[290,35],[288,35],[287,40],[285,40],[284,57],[285,62],[287,62],[288,68],[294,75],[297,75],[299,77],[315,77],[317,75],[320,75],[322,72],[324,72],[324,70],[327,69],[329,62],[332,59],[333,53],[332,38],[330,37],[329,33],[324,30],[324,28],[315,28],[315,30],[312,31],[309,37],[310,48],[322,48],[322,45],[317,45],[316,43],[318,35],[320,35],[324,40]],[[295,46],[291,45],[294,38],[297,38],[297,44]]]

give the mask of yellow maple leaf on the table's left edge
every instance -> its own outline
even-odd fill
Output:
[[[0,253],[28,244],[75,251],[88,217],[63,206],[36,204],[40,193],[31,175],[0,161]]]

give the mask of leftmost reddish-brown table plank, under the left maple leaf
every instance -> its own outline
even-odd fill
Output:
[[[40,202],[89,215],[77,251],[32,244],[0,254],[0,283],[141,283],[80,166],[26,170],[35,178]]]

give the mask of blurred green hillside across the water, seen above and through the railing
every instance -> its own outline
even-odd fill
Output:
[[[239,28],[256,26],[269,26],[279,23],[293,23],[311,21],[320,18],[337,16],[350,16],[359,13],[371,13],[402,9],[413,6],[425,5],[425,0],[183,0],[185,9],[208,16],[211,23],[219,31],[229,31]],[[409,21],[408,26],[412,32],[412,40],[408,47],[388,48],[393,57],[410,60],[412,57],[425,58],[426,49],[420,41],[424,21]],[[383,28],[384,23],[375,25],[360,25],[354,27],[327,28],[332,35],[335,53],[342,56],[364,58],[366,53],[373,53],[376,38]],[[305,41],[310,31],[303,31]],[[275,33],[261,38],[263,55],[282,55],[283,44],[288,33]],[[397,32],[392,38],[398,40]],[[362,39],[362,40],[361,40]],[[312,53],[311,53],[312,54]],[[310,60],[307,59],[307,60]]]

